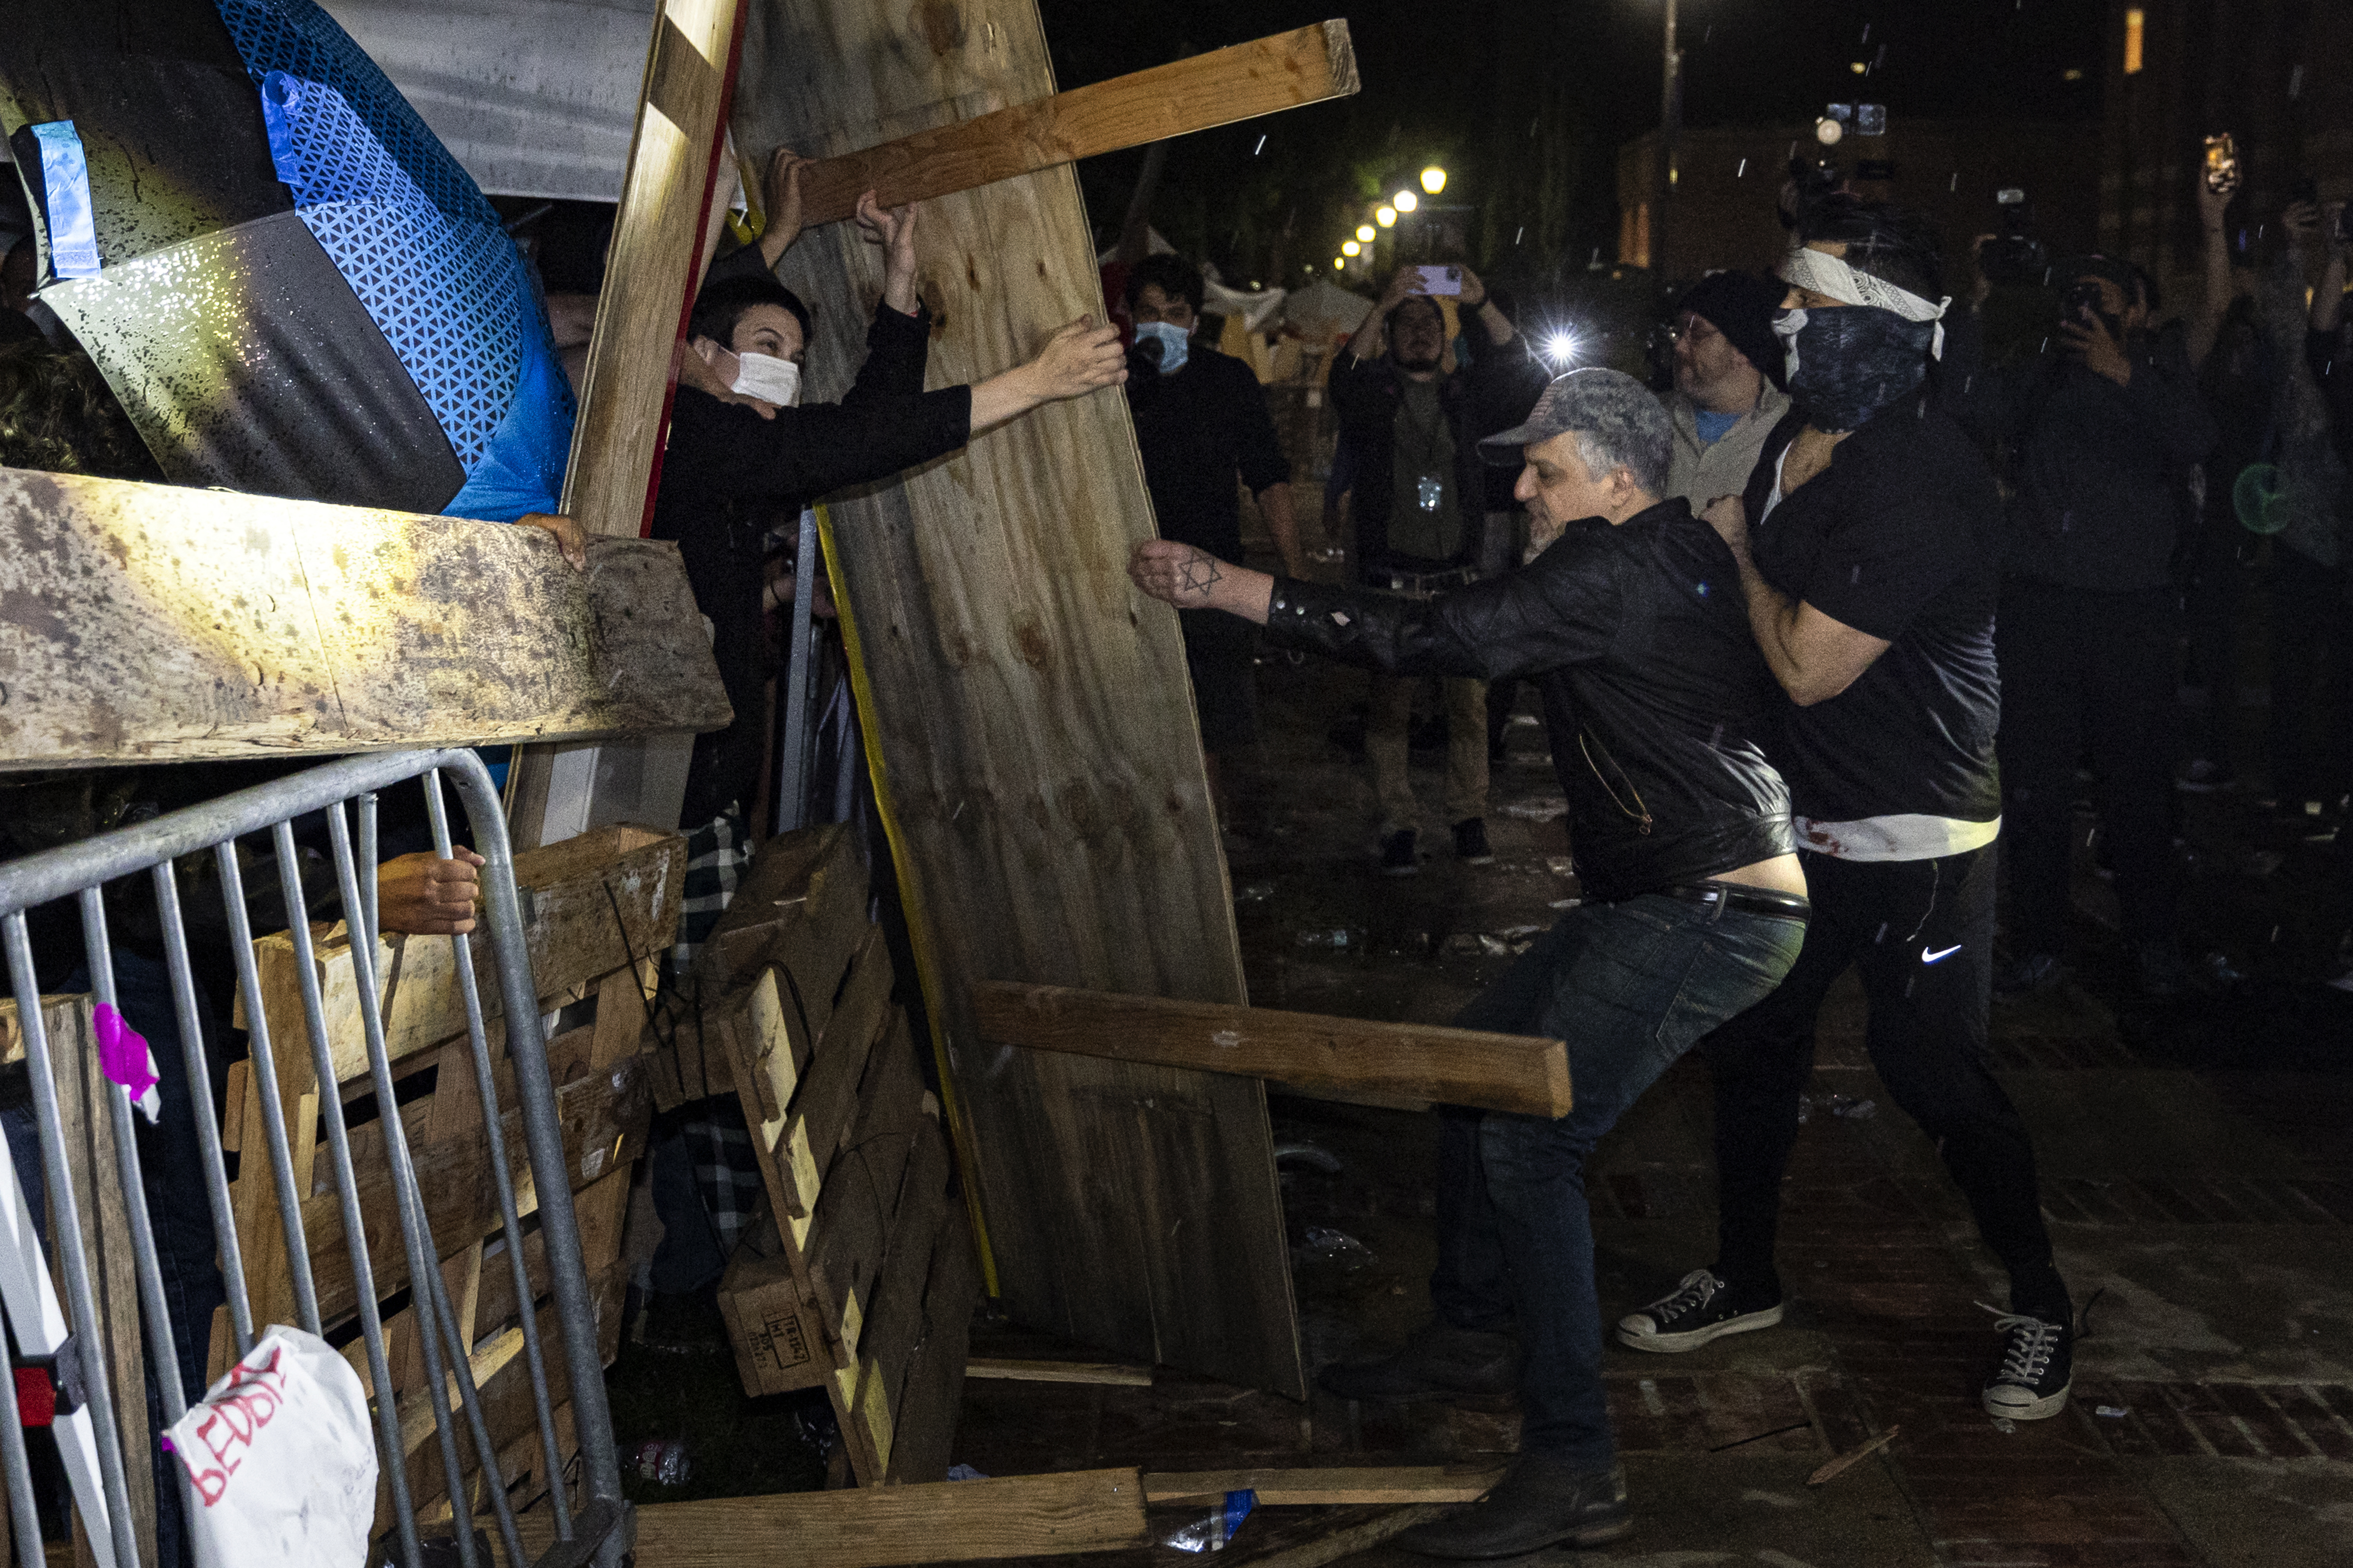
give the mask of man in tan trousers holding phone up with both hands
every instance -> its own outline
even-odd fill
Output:
[[[1457,360],[1447,313],[1468,339]],[[1527,418],[1544,393],[1544,367],[1515,350],[1518,331],[1466,266],[1398,268],[1348,353],[1332,364],[1332,409],[1341,444],[1355,454],[1351,515],[1355,567],[1365,588],[1431,599],[1475,581],[1485,529],[1485,475],[1478,442]],[[1447,823],[1466,865],[1494,858],[1487,846],[1487,684],[1447,677]],[[1374,672],[1365,757],[1381,802],[1381,872],[1421,867],[1421,809],[1405,766],[1405,731],[1419,679]]]

